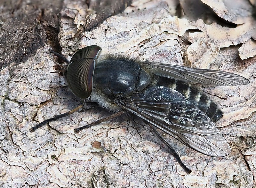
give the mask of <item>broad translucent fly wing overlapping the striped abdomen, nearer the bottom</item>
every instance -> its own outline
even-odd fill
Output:
[[[231,152],[210,118],[172,88],[152,86],[118,104],[200,153],[223,157]]]

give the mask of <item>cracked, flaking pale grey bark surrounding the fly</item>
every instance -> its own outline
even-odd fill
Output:
[[[255,187],[255,1],[0,1],[0,187]],[[80,109],[35,132],[45,119],[82,104],[59,60],[88,45],[102,54],[230,71],[249,85],[197,85],[224,112],[216,123],[232,152],[213,158],[163,134],[187,174],[139,118]]]

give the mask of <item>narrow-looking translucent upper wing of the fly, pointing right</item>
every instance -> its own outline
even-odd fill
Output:
[[[196,69],[171,64],[142,63],[152,73],[182,81],[214,86],[237,86],[249,84],[249,80],[234,73],[210,69]]]

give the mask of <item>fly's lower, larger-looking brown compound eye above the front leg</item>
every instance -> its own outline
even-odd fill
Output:
[[[95,60],[88,58],[79,59],[68,64],[68,86],[81,99],[88,98],[92,93],[94,68]]]

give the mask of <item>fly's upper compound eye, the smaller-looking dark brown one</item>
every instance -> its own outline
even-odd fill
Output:
[[[74,62],[79,59],[89,58],[97,59],[100,55],[101,48],[96,45],[86,46],[78,50],[71,58],[70,62]]]

